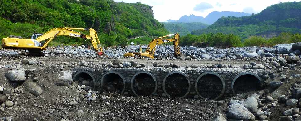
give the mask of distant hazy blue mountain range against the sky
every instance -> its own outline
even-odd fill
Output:
[[[195,15],[184,15],[179,20],[167,20],[168,22],[182,22],[182,23],[191,23],[191,22],[201,22],[204,24],[211,25],[215,21],[217,21],[221,17],[227,17],[227,16],[235,16],[235,17],[241,17],[241,16],[250,16],[251,14],[244,13],[244,12],[231,12],[231,11],[213,11],[209,13],[205,18],[202,16],[195,16]]]

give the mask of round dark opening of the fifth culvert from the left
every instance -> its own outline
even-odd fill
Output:
[[[202,76],[196,85],[197,92],[205,99],[216,99],[223,93],[223,82],[217,76],[213,74],[207,74]]]

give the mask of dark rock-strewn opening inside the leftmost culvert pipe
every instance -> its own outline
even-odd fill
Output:
[[[77,75],[75,75],[73,81],[80,86],[85,85],[85,86],[90,86],[91,88],[94,87],[94,81],[92,76],[86,72],[80,72]]]

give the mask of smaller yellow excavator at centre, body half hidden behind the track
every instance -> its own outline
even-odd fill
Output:
[[[174,38],[166,38],[171,37],[174,35]],[[154,58],[154,53],[156,50],[156,46],[168,42],[174,42],[174,57],[183,57],[182,53],[180,52],[180,35],[179,34],[170,34],[163,37],[159,37],[153,39],[147,46],[147,48],[139,48],[136,49],[134,53],[125,53],[124,57],[135,57],[138,56],[140,58]]]

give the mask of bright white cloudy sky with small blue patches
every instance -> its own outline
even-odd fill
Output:
[[[154,18],[160,22],[178,20],[184,15],[206,17],[212,11],[259,13],[268,6],[293,0],[115,0],[116,2],[141,2],[153,6]],[[301,1],[301,0],[295,0]]]

